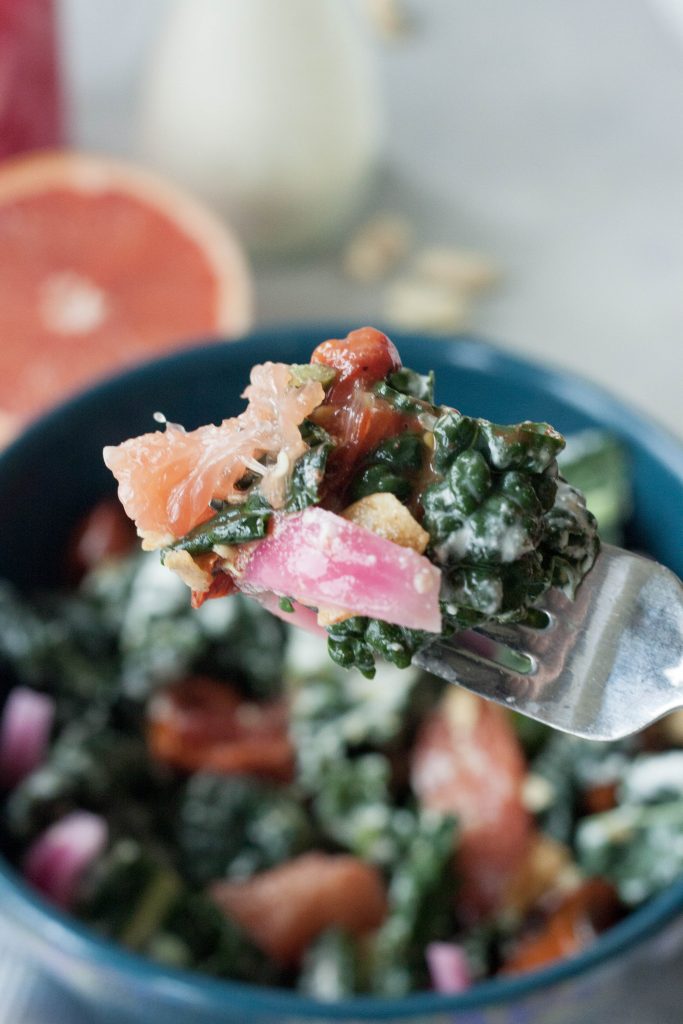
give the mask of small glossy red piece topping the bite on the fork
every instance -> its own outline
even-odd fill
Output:
[[[400,367],[396,346],[373,327],[361,327],[345,338],[324,341],[310,361],[323,362],[337,371],[337,379],[327,396],[333,404],[343,402],[356,381],[375,384]]]

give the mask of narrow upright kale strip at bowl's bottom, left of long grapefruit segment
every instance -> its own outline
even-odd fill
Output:
[[[433,811],[397,811],[401,852],[389,881],[389,912],[372,941],[371,990],[399,996],[428,987],[425,949],[454,928],[457,824]]]

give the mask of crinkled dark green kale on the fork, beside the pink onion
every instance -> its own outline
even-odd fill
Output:
[[[583,497],[558,475],[561,435],[546,423],[502,426],[429,407],[413,392],[392,397],[387,382],[375,390],[423,424],[429,410],[433,446],[428,430],[382,442],[359,468],[351,497],[389,490],[417,506],[430,536],[427,557],[442,572],[443,635],[492,620],[523,621],[549,587],[573,596],[598,540]],[[432,482],[420,494],[427,459]],[[402,667],[430,639],[360,616],[329,627],[328,635],[333,660],[369,677],[377,656]]]

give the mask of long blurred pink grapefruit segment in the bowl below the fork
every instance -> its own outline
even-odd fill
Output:
[[[522,862],[533,825],[522,803],[526,766],[498,705],[453,687],[422,724],[411,765],[421,804],[457,815],[458,910],[471,923],[493,912]]]

